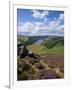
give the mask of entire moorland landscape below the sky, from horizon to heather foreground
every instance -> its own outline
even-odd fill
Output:
[[[23,56],[17,56],[17,80],[64,78],[63,37],[18,36],[17,46]],[[23,46],[34,57],[27,54]]]

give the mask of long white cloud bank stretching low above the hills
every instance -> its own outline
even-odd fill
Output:
[[[48,35],[63,33],[64,25],[59,25],[55,21],[51,21],[50,24],[41,22],[25,22],[21,26],[18,26],[18,32],[24,35]]]

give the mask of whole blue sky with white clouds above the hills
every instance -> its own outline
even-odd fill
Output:
[[[64,36],[64,11],[18,8],[17,35]]]

